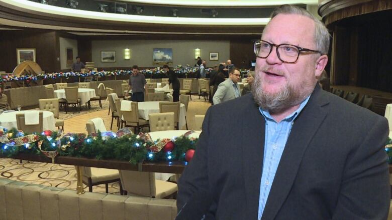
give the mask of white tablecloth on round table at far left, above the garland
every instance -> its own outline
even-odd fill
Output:
[[[19,111],[19,113],[23,113],[27,111]],[[55,127],[55,121],[54,121],[54,115],[53,112],[49,111],[42,111],[44,112],[44,121],[43,121],[43,129],[44,130],[56,130]],[[12,129],[12,128],[17,128],[18,125],[16,123],[16,114],[18,111],[15,112],[8,112],[8,113],[3,113],[0,115],[0,126],[5,127],[7,129]]]

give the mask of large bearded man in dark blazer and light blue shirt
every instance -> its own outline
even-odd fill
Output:
[[[319,20],[288,5],[271,18],[252,94],[206,114],[178,211],[205,193],[205,219],[386,219],[386,119],[320,89],[329,34]]]

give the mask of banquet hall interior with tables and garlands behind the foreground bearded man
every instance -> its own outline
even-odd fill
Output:
[[[284,4],[330,33],[321,88],[392,131],[392,1],[0,0],[0,219],[175,219],[219,85],[252,93]]]

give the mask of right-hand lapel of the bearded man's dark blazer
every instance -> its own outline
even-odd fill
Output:
[[[322,96],[323,93],[320,91],[320,87],[317,86],[308,104],[292,126],[276,170],[262,219],[275,218],[291,189],[304,152],[318,130],[317,128],[327,115],[327,111],[322,106],[328,104],[328,100],[324,99],[323,101]]]

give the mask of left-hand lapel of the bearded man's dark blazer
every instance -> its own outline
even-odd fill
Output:
[[[242,170],[245,186],[246,218],[257,219],[260,179],[263,166],[265,120],[253,102],[242,120]]]

